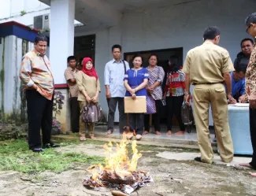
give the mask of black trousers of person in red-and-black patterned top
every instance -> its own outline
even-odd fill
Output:
[[[167,129],[172,130],[173,127],[173,115],[176,116],[180,125],[180,131],[185,131],[185,125],[181,119],[181,106],[184,102],[184,95],[178,97],[167,97],[165,99],[167,106]]]

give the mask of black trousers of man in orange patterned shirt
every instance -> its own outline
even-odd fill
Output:
[[[40,148],[42,129],[43,144],[50,142],[53,123],[53,99],[44,98],[35,90],[26,91],[28,107],[28,146],[29,149]]]

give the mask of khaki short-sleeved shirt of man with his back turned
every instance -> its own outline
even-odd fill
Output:
[[[234,70],[228,51],[207,40],[188,51],[183,68],[192,84],[223,83],[223,73]]]

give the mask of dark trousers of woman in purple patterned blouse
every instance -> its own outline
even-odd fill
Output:
[[[152,115],[154,120],[154,131],[161,131],[160,118],[161,118],[161,110],[163,108],[163,104],[161,100],[155,100],[155,106],[157,109],[157,113],[154,113]],[[150,131],[150,115],[149,114],[145,114],[144,116],[144,128],[145,128],[145,131]]]

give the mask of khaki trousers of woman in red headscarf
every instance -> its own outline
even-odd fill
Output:
[[[79,133],[80,135],[86,134],[86,125],[89,131],[89,135],[94,134],[95,132],[95,123],[84,123],[83,122],[83,108],[87,105],[87,102],[79,102],[80,107],[80,127],[79,127]]]

